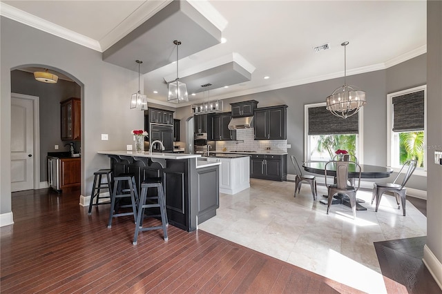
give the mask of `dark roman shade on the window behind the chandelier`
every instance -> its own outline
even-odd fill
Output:
[[[343,119],[332,115],[325,106],[319,106],[310,107],[308,113],[309,135],[358,134],[359,112]]]

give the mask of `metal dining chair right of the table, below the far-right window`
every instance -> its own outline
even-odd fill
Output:
[[[401,208],[399,204],[399,197],[401,197],[402,213],[403,216],[405,217],[405,197],[407,196],[407,189],[405,188],[405,184],[407,184],[408,180],[412,176],[414,170],[416,169],[416,166],[417,166],[417,160],[407,160],[405,161],[405,164],[402,166],[398,175],[394,179],[393,183],[374,183],[372,204],[374,202],[374,199],[376,199],[376,209],[375,209],[376,213],[378,212],[379,203],[381,202],[381,197],[383,193],[392,192],[396,197],[396,204],[398,204],[398,209]],[[396,181],[401,175],[402,170],[404,170],[405,168],[407,168],[407,172],[403,177],[402,183],[396,184]]]

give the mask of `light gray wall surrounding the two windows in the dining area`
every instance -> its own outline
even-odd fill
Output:
[[[398,90],[421,86],[426,81],[426,55],[415,57],[392,66],[387,70],[377,70],[347,77],[347,84],[364,90],[367,104],[363,108],[363,148],[364,164],[387,165],[387,94]],[[318,81],[316,83],[260,92],[224,100],[224,111],[230,111],[230,103],[254,99],[259,107],[287,104],[287,144],[289,155],[304,158],[304,105],[325,102],[325,97],[343,84],[343,78]],[[179,108],[177,117],[189,117],[190,107]],[[287,162],[288,173],[294,174],[291,162]],[[392,181],[396,177],[376,179],[376,182]],[[413,175],[407,184],[410,188],[427,190],[427,179]]]

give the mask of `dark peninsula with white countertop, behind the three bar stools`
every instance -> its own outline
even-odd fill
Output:
[[[137,190],[147,177],[162,177],[169,224],[195,231],[216,215],[220,204],[220,162],[197,160],[201,155],[99,151],[111,158],[113,175],[135,174]],[[154,193],[149,189],[148,193]]]

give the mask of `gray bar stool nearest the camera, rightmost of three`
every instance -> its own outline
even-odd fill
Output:
[[[148,188],[157,188],[157,195],[148,196]],[[155,201],[156,200],[156,201]],[[143,228],[143,218],[145,208],[160,208],[160,215],[148,215],[148,217],[161,217],[161,226],[149,226]],[[137,244],[138,233],[142,231],[151,231],[163,229],[164,241],[167,241],[167,228],[169,224],[166,213],[166,198],[164,197],[164,190],[162,186],[161,177],[148,177],[141,185],[140,201],[138,202],[137,222],[135,224],[135,235],[133,237],[133,245]]]

